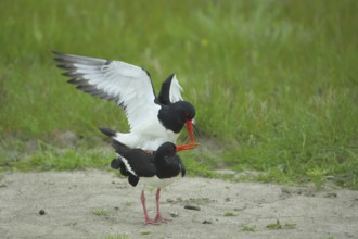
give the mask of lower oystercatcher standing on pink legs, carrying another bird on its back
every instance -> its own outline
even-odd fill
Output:
[[[119,169],[122,175],[128,177],[128,183],[136,187],[139,180],[145,185],[154,186],[156,190],[156,216],[151,219],[145,206],[144,188],[141,192],[141,202],[144,212],[144,224],[166,223],[159,211],[161,189],[172,184],[177,178],[186,175],[186,168],[176,146],[172,142],[164,142],[159,148],[151,153],[141,149],[131,149],[113,140],[113,147],[122,155],[120,161],[112,161],[111,166]]]

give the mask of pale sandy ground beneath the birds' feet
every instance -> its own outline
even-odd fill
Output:
[[[358,238],[358,191],[183,178],[163,190],[172,221],[157,226],[140,191],[113,172],[3,173],[0,238]]]

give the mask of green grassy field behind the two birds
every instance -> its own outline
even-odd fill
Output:
[[[56,50],[143,66],[156,89],[175,72],[197,110],[202,147],[181,154],[193,175],[358,189],[357,11],[355,0],[0,1],[0,166],[106,168],[97,127],[128,129],[114,103],[66,84]],[[75,148],[55,143],[66,130]]]

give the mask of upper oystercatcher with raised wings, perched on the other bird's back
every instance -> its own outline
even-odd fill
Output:
[[[130,133],[116,133],[113,139],[130,148],[154,151],[164,142],[175,142],[187,124],[191,142],[177,146],[177,151],[197,146],[192,129],[195,109],[182,100],[182,89],[175,74],[163,83],[156,97],[144,68],[122,61],[53,53],[60,63],[57,66],[66,70],[63,75],[72,77],[68,83],[123,108]]]

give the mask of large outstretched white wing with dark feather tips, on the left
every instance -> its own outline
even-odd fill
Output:
[[[142,122],[158,111],[149,73],[136,65],[120,61],[79,56],[53,52],[68,83],[95,97],[115,101],[128,117],[130,128],[140,127]]]

